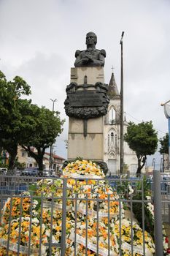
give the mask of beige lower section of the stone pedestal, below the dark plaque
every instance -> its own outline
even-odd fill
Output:
[[[83,126],[82,119],[69,118],[68,160],[82,157],[102,162],[104,117],[88,119],[86,137],[83,134]]]

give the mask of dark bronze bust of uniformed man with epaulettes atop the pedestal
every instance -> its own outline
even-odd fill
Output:
[[[86,35],[87,50],[77,50],[75,67],[104,67],[105,50],[96,49],[97,36],[93,32]]]

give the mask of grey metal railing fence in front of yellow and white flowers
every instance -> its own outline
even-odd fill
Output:
[[[160,182],[162,202],[144,177],[0,176],[0,255],[155,255],[153,201],[169,218],[169,180]]]

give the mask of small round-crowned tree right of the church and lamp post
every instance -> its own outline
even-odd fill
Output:
[[[147,159],[147,155],[155,154],[158,146],[158,136],[153,129],[152,121],[134,124],[130,122],[124,136],[129,148],[136,152],[138,159],[137,174],[141,173]]]

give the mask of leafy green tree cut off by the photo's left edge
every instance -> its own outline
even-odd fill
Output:
[[[20,137],[20,103],[21,95],[31,94],[30,86],[23,78],[15,76],[12,81],[7,81],[0,71],[0,146],[9,153],[9,168],[15,165]]]

